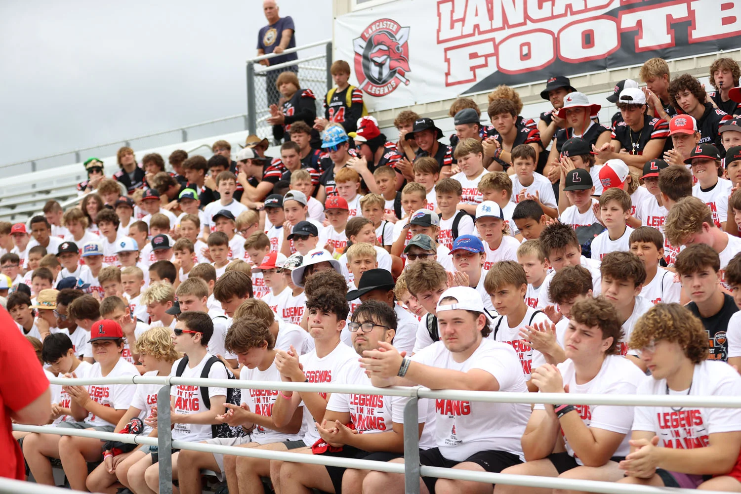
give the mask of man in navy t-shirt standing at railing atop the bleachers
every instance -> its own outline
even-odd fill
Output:
[[[290,16],[281,17],[279,15],[276,0],[263,1],[262,10],[265,12],[265,19],[268,19],[268,25],[261,27],[259,33],[257,33],[258,56],[267,55],[268,53],[283,53],[289,48],[295,48],[296,36],[293,36],[293,34],[296,28],[293,27],[293,19]],[[299,56],[296,53],[289,53],[288,55],[276,56],[273,59],[262,60],[260,64],[270,66],[298,59]],[[298,73],[299,67],[297,65],[291,65],[290,67],[270,70],[265,74],[267,76],[265,88],[268,92],[268,106],[270,104],[278,104],[280,94],[276,90],[276,79],[279,73],[286,70]]]

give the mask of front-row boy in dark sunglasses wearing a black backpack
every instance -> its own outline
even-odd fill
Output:
[[[173,330],[173,342],[175,350],[185,353],[185,357],[177,360],[172,367],[170,375],[184,378],[210,378],[227,379],[234,376],[219,361],[219,358],[208,353],[207,345],[213,335],[213,321],[206,313],[188,311],[181,313]],[[236,391],[228,390],[229,394]],[[233,401],[234,401],[234,397]],[[236,404],[240,403],[241,397],[236,397]],[[230,402],[233,402],[230,401]],[[219,438],[224,442],[216,444],[242,444],[249,440],[246,433],[230,430],[225,432],[217,419],[217,415],[224,415],[227,402],[227,388],[225,387],[196,387],[187,384],[173,386],[170,392],[170,421],[174,424],[172,431],[173,441],[205,441],[207,439]],[[163,410],[163,411],[166,411]],[[159,407],[153,408],[152,413],[145,421],[152,427],[156,427]],[[229,436],[229,437],[227,437]],[[159,466],[157,461],[159,455],[152,453],[144,456],[134,464],[128,474],[131,489],[136,493],[159,492]],[[178,477],[178,455],[173,455],[173,480]],[[193,464],[184,465],[185,468],[193,468]]]

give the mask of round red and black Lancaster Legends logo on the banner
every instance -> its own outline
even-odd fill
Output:
[[[370,96],[393,93],[399,83],[409,84],[409,27],[379,19],[353,40],[355,73],[359,87]]]

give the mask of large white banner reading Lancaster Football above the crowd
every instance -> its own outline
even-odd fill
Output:
[[[741,0],[396,0],[335,21],[371,110],[741,47]]]

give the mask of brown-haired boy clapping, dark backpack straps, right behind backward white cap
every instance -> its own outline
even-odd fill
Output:
[[[537,387],[530,380],[534,350],[519,332],[526,326],[548,322],[548,316],[545,316],[542,310],[536,310],[525,304],[528,278],[525,276],[525,270],[516,261],[499,261],[494,264],[486,274],[484,287],[491,296],[494,309],[499,313],[499,317],[494,318],[491,336],[494,341],[512,345],[522,364],[522,373],[525,375],[528,390],[536,392]]]

